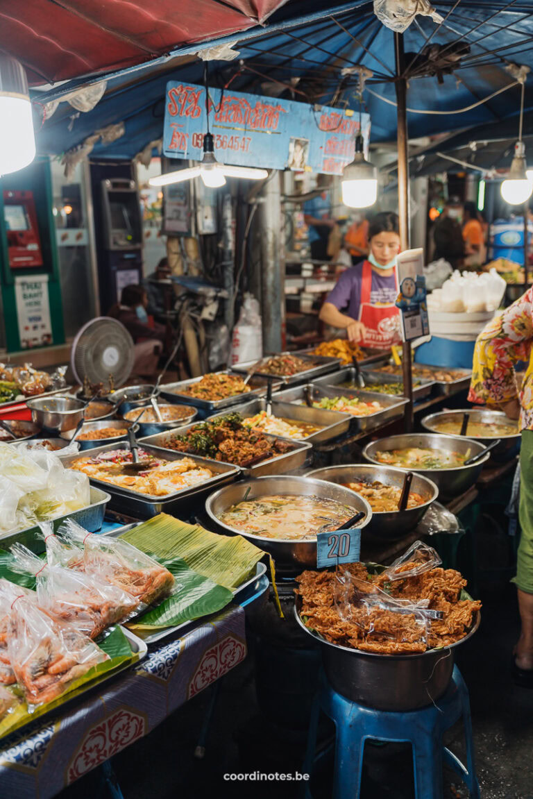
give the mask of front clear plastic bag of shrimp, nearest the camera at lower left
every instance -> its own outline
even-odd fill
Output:
[[[27,598],[13,603],[7,645],[26,702],[53,702],[74,680],[109,655],[71,624],[59,622]]]

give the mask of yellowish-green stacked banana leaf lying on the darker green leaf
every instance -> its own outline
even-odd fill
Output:
[[[160,559],[179,557],[219,586],[235,590],[251,578],[265,555],[241,535],[218,535],[165,513],[121,536],[137,549]]]

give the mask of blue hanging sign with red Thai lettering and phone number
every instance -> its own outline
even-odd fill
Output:
[[[350,109],[209,89],[209,129],[221,163],[338,175],[353,160],[360,129],[368,155],[370,117]],[[205,133],[204,87],[169,81],[165,156],[201,161]]]

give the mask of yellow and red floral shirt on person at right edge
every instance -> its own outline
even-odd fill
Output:
[[[468,400],[496,405],[520,400],[520,428],[533,429],[533,288],[502,314],[495,316],[475,343],[474,366]],[[515,363],[526,361],[526,376],[519,391]]]

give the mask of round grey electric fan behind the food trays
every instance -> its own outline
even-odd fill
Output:
[[[128,380],[134,360],[133,339],[121,322],[98,316],[78,331],[72,345],[70,365],[80,385],[106,384],[113,376],[114,388]]]

